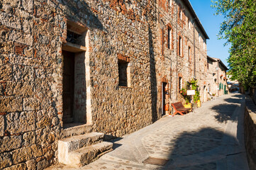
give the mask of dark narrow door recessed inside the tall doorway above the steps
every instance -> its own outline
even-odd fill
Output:
[[[63,55],[63,123],[74,121],[74,53],[62,51]]]

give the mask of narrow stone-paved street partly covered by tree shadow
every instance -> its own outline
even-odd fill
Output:
[[[116,140],[112,152],[81,169],[248,169],[244,111],[245,96],[223,95],[194,113],[166,116]]]

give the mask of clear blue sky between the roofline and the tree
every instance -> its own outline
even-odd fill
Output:
[[[228,67],[228,49],[230,45],[224,47],[226,40],[218,40],[217,34],[220,30],[223,16],[213,16],[216,9],[211,8],[211,0],[189,0],[196,12],[201,24],[206,30],[207,40],[207,55],[221,59],[221,61]]]

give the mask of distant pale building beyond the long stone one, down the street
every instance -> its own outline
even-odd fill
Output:
[[[222,96],[228,93],[227,70],[228,68],[220,59],[207,56],[207,83],[209,92],[216,96]]]

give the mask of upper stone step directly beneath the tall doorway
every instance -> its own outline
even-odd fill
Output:
[[[96,144],[103,140],[104,133],[91,132],[85,135],[67,137],[58,141],[59,159],[62,159],[69,152]]]

